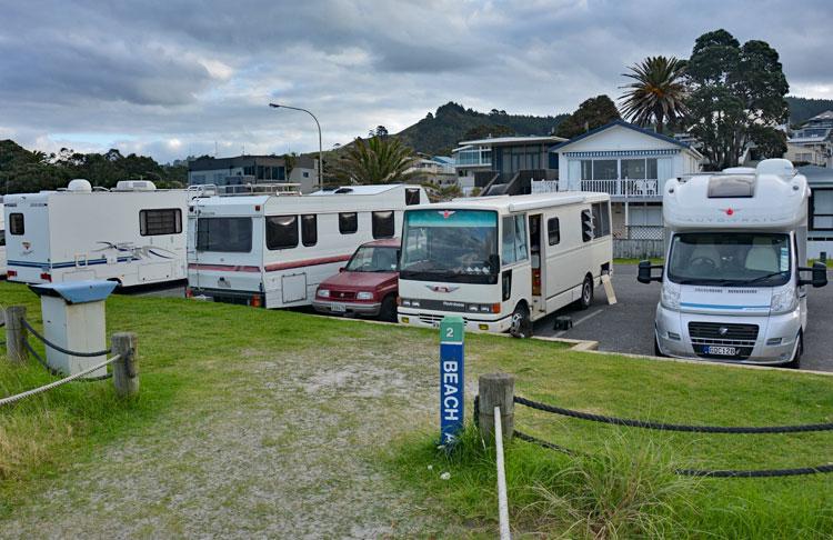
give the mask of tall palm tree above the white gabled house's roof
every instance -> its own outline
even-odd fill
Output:
[[[639,126],[656,122],[656,131],[662,133],[665,121],[673,122],[685,116],[684,60],[649,57],[629,69],[630,73],[622,76],[634,82],[621,87],[629,90],[619,98],[625,118]]]

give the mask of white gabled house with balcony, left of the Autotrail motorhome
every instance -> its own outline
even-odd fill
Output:
[[[559,191],[611,196],[613,236],[662,239],[665,181],[700,171],[703,156],[685,142],[615,120],[550,148]]]

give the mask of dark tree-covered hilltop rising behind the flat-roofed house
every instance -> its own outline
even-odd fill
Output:
[[[419,122],[403,129],[397,137],[418,152],[448,156],[466,132],[475,128],[493,127],[495,133],[508,132],[505,128],[509,128],[514,134],[550,134],[564,118],[566,114],[533,117],[506,114],[498,110],[485,113],[449,102],[436,109],[436,113],[429,112]]]

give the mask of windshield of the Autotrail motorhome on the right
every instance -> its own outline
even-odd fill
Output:
[[[668,276],[681,284],[774,287],[790,279],[790,237],[686,232],[671,242]]]

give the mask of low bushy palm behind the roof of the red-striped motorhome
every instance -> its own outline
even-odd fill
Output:
[[[395,137],[357,137],[339,162],[342,183],[402,183],[413,178],[413,151]]]

